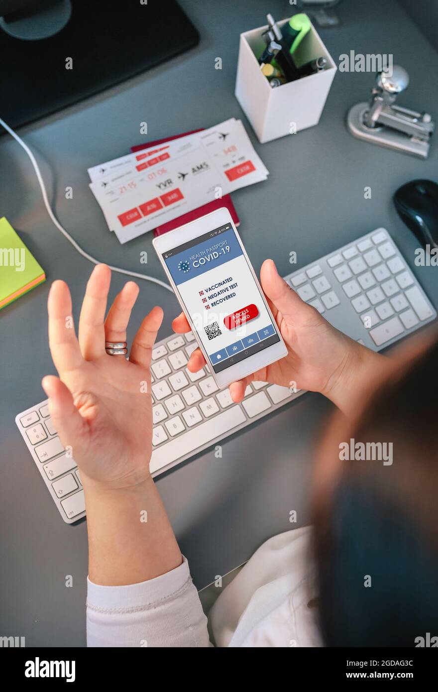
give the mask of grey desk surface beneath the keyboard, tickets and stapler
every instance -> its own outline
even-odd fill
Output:
[[[291,250],[300,265],[307,264],[377,226],[390,230],[412,266],[417,243],[396,216],[391,197],[409,179],[437,177],[438,142],[423,162],[354,139],[345,129],[345,113],[367,98],[373,75],[338,73],[318,127],[259,145],[234,97],[239,33],[263,24],[268,10],[286,16],[289,3],[184,0],[182,5],[201,33],[196,49],[21,131],[42,163],[57,216],[82,247],[135,271],[145,270],[140,251],[147,250],[147,272],[163,277],[150,235],[120,246],[109,233],[86,168],[144,140],[141,121],[147,121],[148,138],[155,139],[236,116],[271,172],[268,181],[233,194],[257,270],[273,257],[280,272],[288,273]],[[438,91],[430,92],[430,74],[438,73],[438,55],[396,2],[345,0],[339,12],[342,26],[321,32],[335,60],[350,49],[393,53],[412,79],[404,103],[426,109],[436,120]],[[222,58],[221,71],[215,70],[216,57]],[[8,136],[0,138],[0,180],[0,214],[19,231],[48,278],[0,313],[0,635],[25,636],[26,646],[84,646],[86,523],[62,522],[14,417],[44,398],[41,378],[54,372],[46,336],[51,281],[69,282],[77,318],[91,265],[49,221],[28,158]],[[365,200],[368,185],[372,199]],[[65,199],[67,186],[73,199]],[[438,306],[433,268],[414,271]],[[159,336],[166,336],[176,300],[158,286],[140,283],[129,338],[156,303],[165,311]],[[122,284],[114,275],[111,297]],[[309,519],[313,446],[328,410],[322,397],[305,394],[230,437],[221,459],[208,450],[158,480],[199,588],[246,561],[266,538],[291,529],[292,509],[298,525]],[[73,588],[65,586],[68,574]]]

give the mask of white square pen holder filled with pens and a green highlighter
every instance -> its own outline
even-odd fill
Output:
[[[289,19],[278,22],[280,28]],[[235,96],[261,143],[318,125],[322,109],[336,73],[336,64],[313,25],[293,53],[300,67],[325,57],[327,66],[308,77],[281,86],[271,86],[260,70],[257,57],[266,46],[261,26],[240,35]],[[256,57],[257,56],[257,57]]]

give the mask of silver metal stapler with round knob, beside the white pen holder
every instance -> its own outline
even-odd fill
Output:
[[[399,65],[378,73],[371,100],[358,103],[348,111],[347,127],[355,137],[372,144],[428,158],[435,129],[431,116],[394,103],[408,84],[409,75]]]

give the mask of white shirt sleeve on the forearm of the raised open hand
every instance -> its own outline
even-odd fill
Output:
[[[212,646],[185,558],[171,572],[138,584],[87,581],[87,646]]]

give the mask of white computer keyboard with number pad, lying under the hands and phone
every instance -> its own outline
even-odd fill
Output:
[[[378,351],[433,320],[437,313],[384,228],[364,235],[285,277],[334,327]],[[153,476],[167,471],[304,392],[253,382],[244,401],[218,390],[208,366],[189,372],[197,343],[173,334],[152,352]],[[15,418],[39,473],[65,522],[85,516],[84,491],[64,450],[47,401]]]

